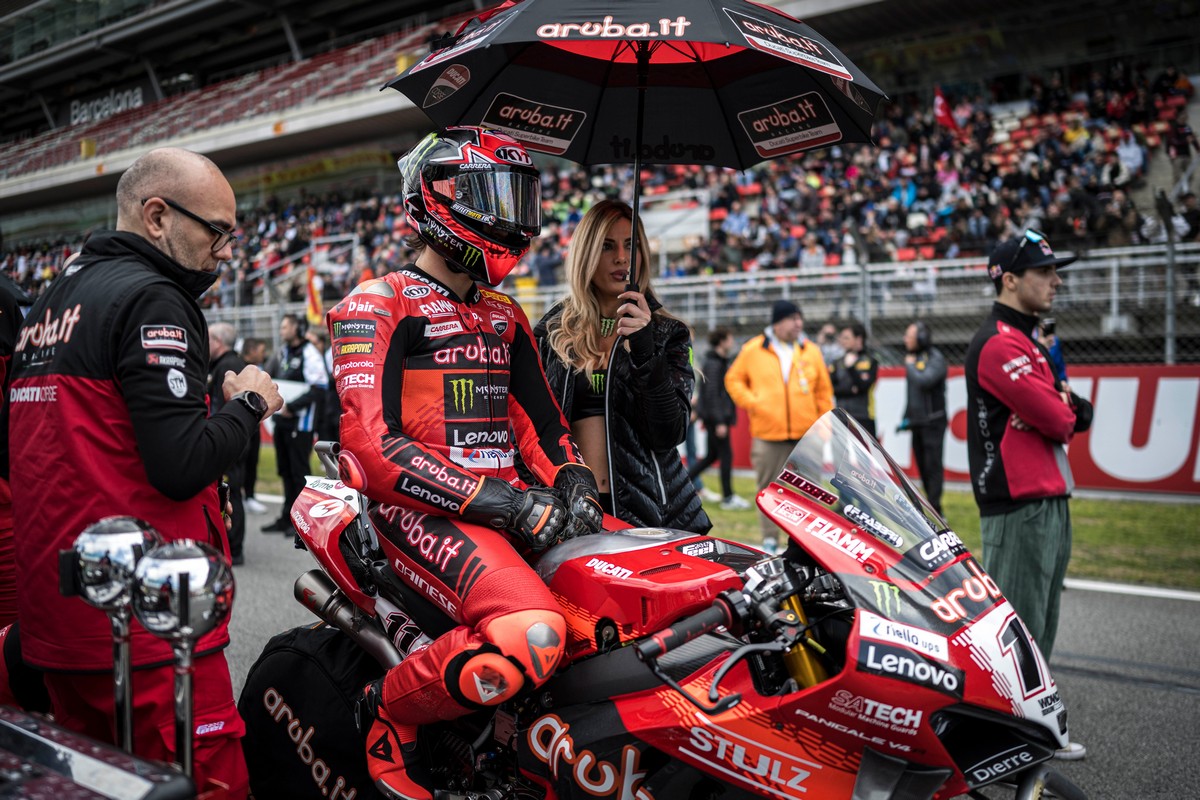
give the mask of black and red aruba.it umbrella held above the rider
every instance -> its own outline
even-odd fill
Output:
[[[643,163],[745,169],[870,142],[883,98],[810,26],[748,0],[510,1],[438,44],[388,86],[438,127],[632,163],[635,215]]]

